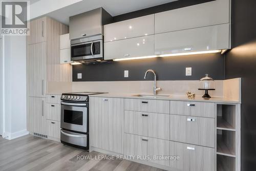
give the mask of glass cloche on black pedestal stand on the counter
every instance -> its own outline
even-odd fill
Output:
[[[208,74],[205,74],[205,77],[200,79],[200,88],[198,90],[205,90],[205,94],[202,96],[204,98],[210,98],[208,94],[209,90],[215,90],[214,79],[209,77]]]

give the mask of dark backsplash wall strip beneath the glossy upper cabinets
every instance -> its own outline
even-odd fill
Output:
[[[192,67],[192,76],[185,76],[186,67]],[[77,65],[73,66],[73,81],[144,80],[148,69],[156,71],[158,80],[198,80],[204,74],[223,79],[224,56],[203,54]],[[124,70],[129,70],[129,78],[124,78]],[[82,73],[82,79],[77,79],[77,73]],[[147,77],[147,80],[152,80],[152,77]]]

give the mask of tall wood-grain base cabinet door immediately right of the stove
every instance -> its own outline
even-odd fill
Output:
[[[90,97],[90,146],[123,154],[124,101]]]

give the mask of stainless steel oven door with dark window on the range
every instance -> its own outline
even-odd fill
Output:
[[[88,130],[88,103],[61,102],[60,127],[82,133]]]

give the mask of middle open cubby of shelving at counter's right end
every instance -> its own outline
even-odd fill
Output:
[[[227,132],[227,131],[226,131]],[[229,157],[236,157],[235,148],[232,140],[233,133],[226,133],[225,135],[217,135],[217,154]]]

